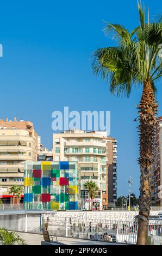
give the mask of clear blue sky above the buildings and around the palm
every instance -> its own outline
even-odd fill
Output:
[[[150,16],[160,14],[160,0],[145,0]],[[109,93],[109,84],[91,71],[91,52],[114,44],[102,32],[104,22],[139,25],[136,0],[3,1],[0,15],[0,118],[33,121],[42,142],[52,148],[55,110],[111,111],[111,136],[118,140],[118,196],[139,194],[136,105],[141,90],[129,99]],[[160,83],[158,100],[162,96]],[[161,102],[159,114],[162,115]],[[49,143],[48,143],[49,141]]]

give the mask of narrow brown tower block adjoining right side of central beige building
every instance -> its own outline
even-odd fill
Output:
[[[108,159],[108,205],[115,206],[117,201],[117,141],[115,138],[107,138]]]

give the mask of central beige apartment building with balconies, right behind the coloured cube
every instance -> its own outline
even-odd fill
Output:
[[[53,161],[77,161],[81,170],[82,208],[88,209],[88,191],[84,184],[96,182],[98,191],[92,199],[92,209],[108,207],[107,132],[70,130],[53,134]]]

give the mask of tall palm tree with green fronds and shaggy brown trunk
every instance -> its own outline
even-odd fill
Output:
[[[110,81],[110,92],[129,96],[132,87],[142,86],[138,105],[140,137],[140,205],[138,245],[147,245],[148,218],[151,203],[149,173],[153,164],[155,123],[158,103],[155,101],[154,82],[162,76],[159,44],[162,42],[162,17],[145,22],[145,10],[138,3],[140,25],[130,33],[125,27],[106,23],[105,35],[117,39],[117,47],[99,48],[93,53],[92,69],[105,81]],[[149,16],[149,15],[148,15]],[[149,20],[149,19],[148,19]]]

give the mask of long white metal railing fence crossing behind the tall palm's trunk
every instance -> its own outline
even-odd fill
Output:
[[[73,217],[58,214],[1,214],[0,227],[35,234],[48,230],[49,234],[56,236],[122,243],[136,243],[138,231],[135,221],[113,221],[85,217],[79,213]],[[148,243],[162,245],[162,221],[149,221]]]

